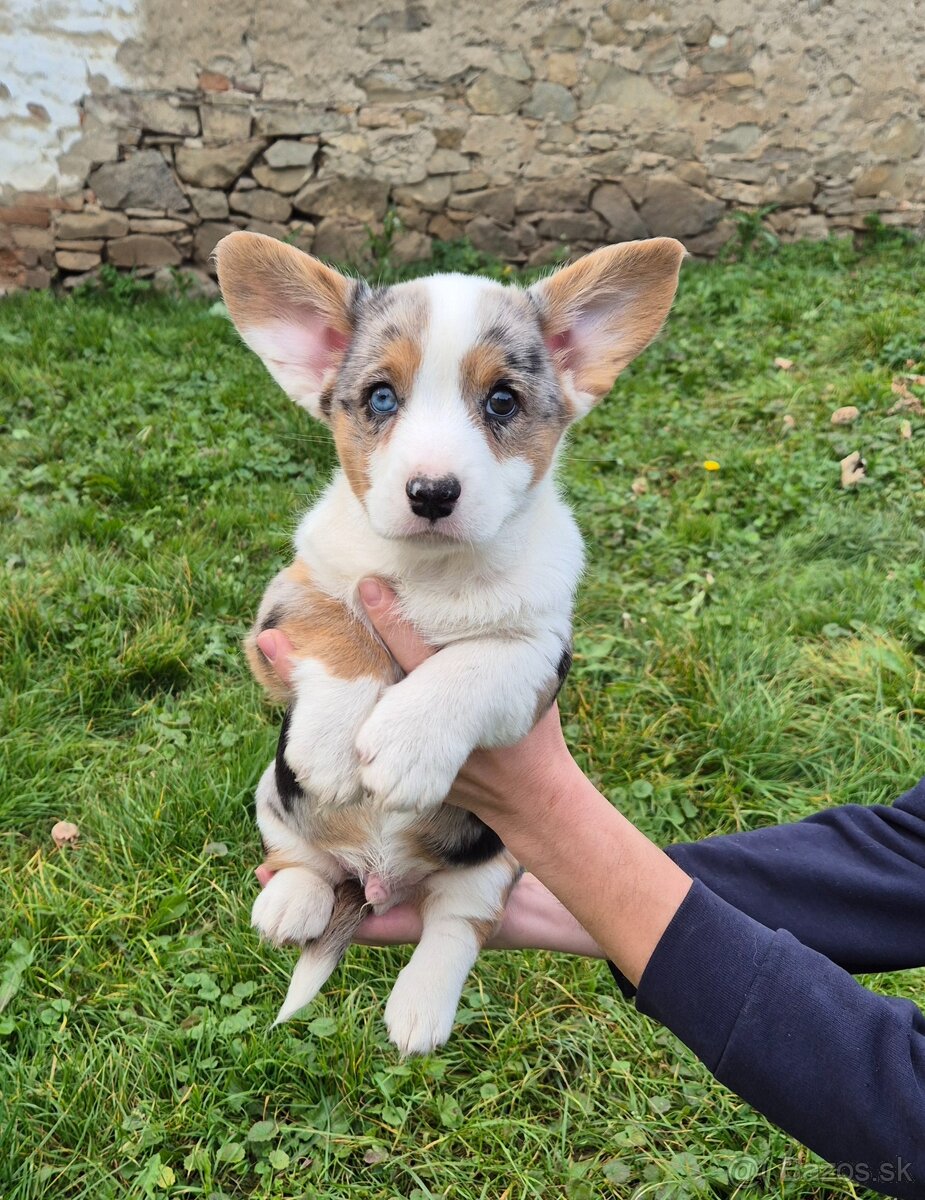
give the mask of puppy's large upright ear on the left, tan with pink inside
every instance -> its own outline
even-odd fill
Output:
[[[238,332],[283,391],[323,420],[323,397],[350,343],[350,306],[362,284],[259,233],[222,238],[215,259]]]

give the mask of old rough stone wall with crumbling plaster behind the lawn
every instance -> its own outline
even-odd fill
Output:
[[[208,270],[236,228],[362,264],[512,263],[735,209],[785,238],[925,220],[925,6],[19,0],[0,17],[0,281]],[[4,26],[6,19],[7,25]],[[78,70],[79,67],[79,70]]]

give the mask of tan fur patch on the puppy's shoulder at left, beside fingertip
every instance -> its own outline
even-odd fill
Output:
[[[394,683],[397,667],[378,638],[340,602],[312,583],[307,565],[295,559],[266,589],[257,623],[245,641],[258,683],[278,700],[289,697],[257,647],[257,635],[272,623],[293,646],[293,659],[314,659],[337,679],[373,678]]]

